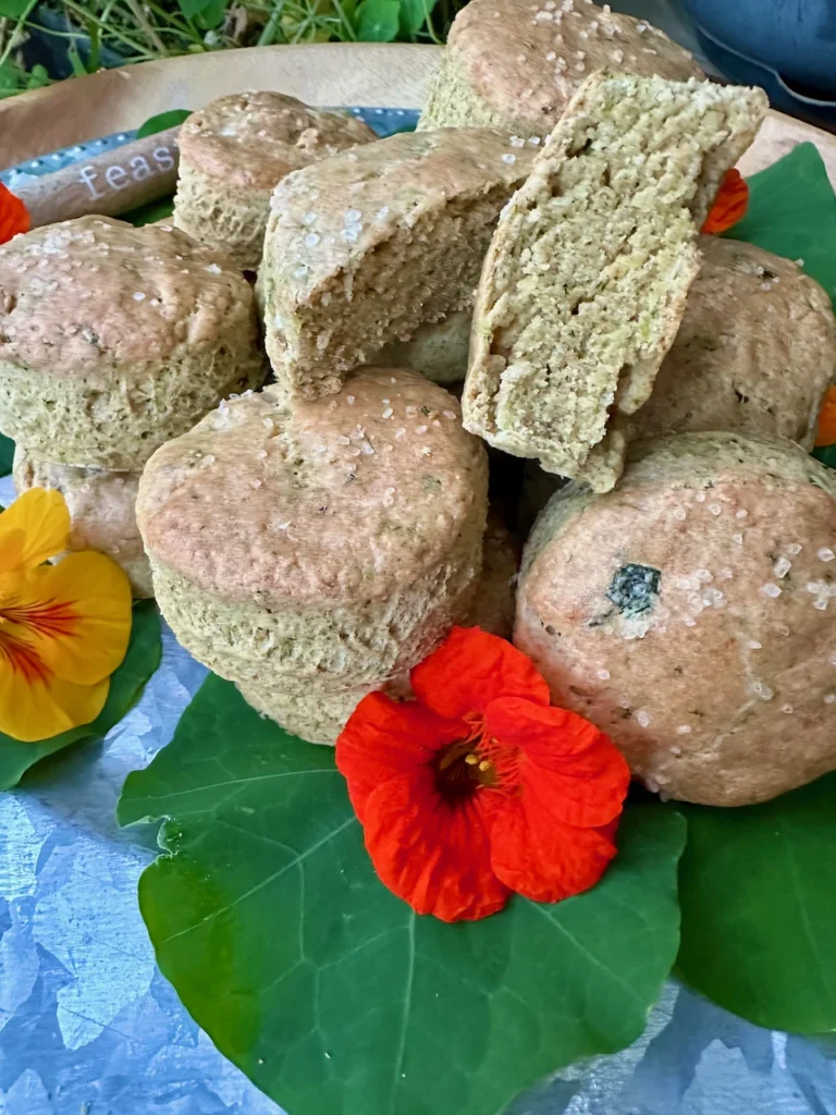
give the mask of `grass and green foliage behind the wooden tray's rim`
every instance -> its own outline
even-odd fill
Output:
[[[0,0],[0,98],[48,85],[41,35],[74,75],[103,65],[282,42],[441,42],[465,0]],[[64,30],[55,30],[56,19]]]

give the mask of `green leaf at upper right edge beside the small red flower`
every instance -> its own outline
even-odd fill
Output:
[[[836,304],[836,196],[816,145],[799,144],[748,182],[749,210],[729,236],[804,260]]]

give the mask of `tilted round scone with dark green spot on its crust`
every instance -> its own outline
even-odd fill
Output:
[[[651,789],[764,802],[836,768],[836,474],[778,438],[636,445],[523,558],[515,643]]]

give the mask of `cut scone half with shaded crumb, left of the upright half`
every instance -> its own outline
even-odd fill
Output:
[[[283,178],[259,290],[268,353],[288,395],[331,395],[385,345],[472,307],[499,210],[532,152],[486,129],[441,128]]]

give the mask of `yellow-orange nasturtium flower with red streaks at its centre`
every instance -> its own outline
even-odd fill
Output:
[[[26,743],[95,720],[130,634],[130,586],[104,554],[69,554],[60,492],[0,514],[0,731]]]

